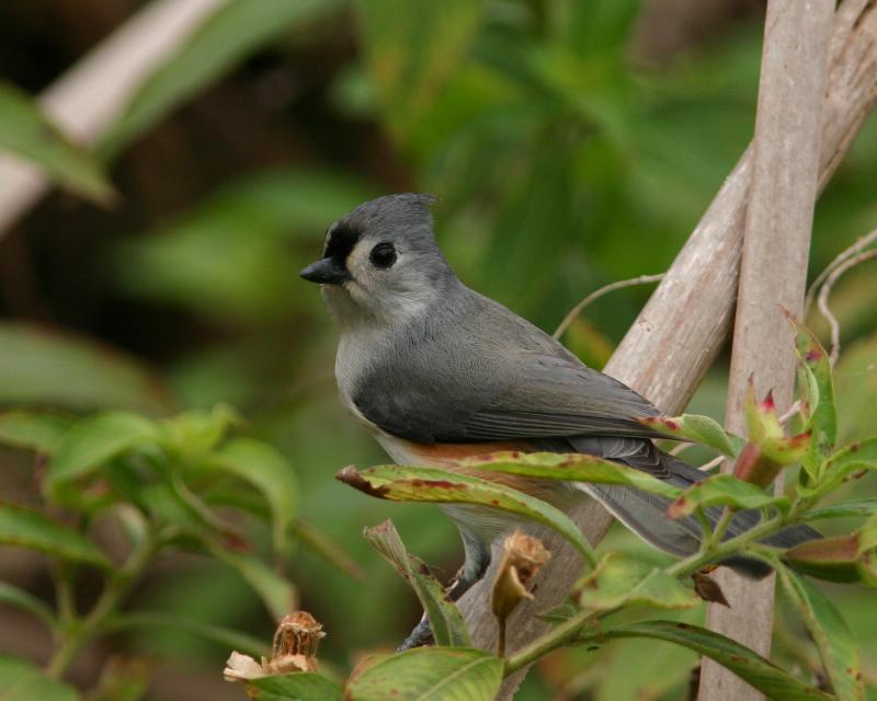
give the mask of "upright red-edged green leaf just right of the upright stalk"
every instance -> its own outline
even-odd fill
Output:
[[[799,393],[807,416],[804,429],[812,436],[810,452],[804,460],[811,478],[819,478],[819,466],[834,449],[838,438],[838,415],[834,406],[834,383],[825,349],[802,323],[789,320],[796,332],[795,348],[800,360]]]

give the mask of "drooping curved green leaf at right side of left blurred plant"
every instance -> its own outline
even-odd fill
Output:
[[[210,471],[234,474],[262,493],[271,506],[274,552],[277,555],[285,552],[286,536],[298,504],[295,472],[286,458],[267,444],[236,438],[215,451],[205,467]]]

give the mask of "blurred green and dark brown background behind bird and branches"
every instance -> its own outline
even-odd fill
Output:
[[[3,0],[0,79],[37,95],[146,4]],[[594,289],[660,273],[751,138],[763,5],[229,2],[99,140],[113,205],[56,189],[0,231],[0,405],[157,415],[236,406],[247,432],[294,467],[301,517],[361,571],[307,548],[288,568],[303,608],[328,631],[321,659],[346,674],[365,652],[397,644],[420,614],[363,527],[391,517],[409,549],[446,576],[460,547],[433,507],[388,505],[333,479],[346,464],[386,459],[337,399],[335,330],[297,272],[352,207],[418,191],[441,198],[438,241],[464,281],[549,333]],[[872,118],[818,205],[811,278],[877,228],[875,182]],[[601,367],[650,291],[602,298],[565,342]],[[846,275],[831,303],[847,440],[876,433],[873,264]],[[808,321],[825,333],[818,317]],[[726,374],[722,357],[690,411],[721,420]],[[34,474],[33,457],[3,449],[0,498],[35,502]],[[877,493],[874,480],[856,489]],[[603,547],[641,548],[617,530]],[[37,555],[0,550],[0,579],[52,602]],[[877,683],[874,596],[848,588],[839,605]],[[235,573],[194,555],[162,560],[132,606],[265,640],[274,628]],[[795,621],[777,630],[781,660],[813,664]],[[0,651],[42,662],[47,645],[24,614],[0,608]],[[89,650],[70,678],[87,687],[107,655],[124,654],[153,665],[146,698],[240,699],[221,680],[228,652],[155,631]],[[654,642],[562,651],[520,698],[682,699],[696,664]]]

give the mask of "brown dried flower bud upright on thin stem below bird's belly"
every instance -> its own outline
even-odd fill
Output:
[[[505,647],[505,619],[522,599],[533,598],[527,585],[550,558],[538,538],[515,530],[505,539],[491,598],[491,610],[500,623],[500,655]]]

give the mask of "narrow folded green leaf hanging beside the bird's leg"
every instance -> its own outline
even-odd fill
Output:
[[[444,587],[423,561],[406,551],[392,521],[386,520],[374,528],[366,528],[365,539],[414,589],[430,619],[435,644],[454,647],[471,646],[469,630],[456,605],[447,598]]]

